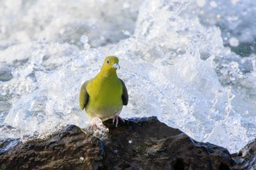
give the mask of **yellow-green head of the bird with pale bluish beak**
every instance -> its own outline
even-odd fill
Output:
[[[116,74],[116,69],[120,69],[118,62],[119,60],[115,56],[106,57],[100,72],[103,72],[105,76]]]

